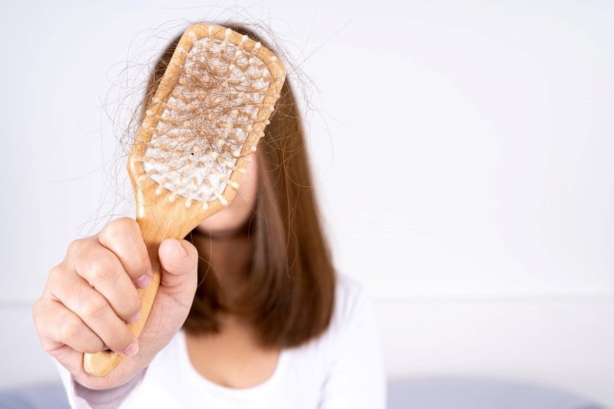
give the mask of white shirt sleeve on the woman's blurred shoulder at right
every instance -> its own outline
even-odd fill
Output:
[[[338,322],[319,409],[383,409],[385,373],[373,301],[357,283],[353,297],[337,297]]]

